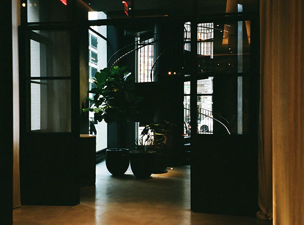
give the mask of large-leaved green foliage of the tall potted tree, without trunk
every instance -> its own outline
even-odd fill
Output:
[[[116,66],[96,72],[93,82],[96,87],[90,90],[95,95],[93,99],[88,98],[93,105],[83,112],[94,112],[95,121],[117,124],[138,114],[137,106],[143,98],[134,93],[134,78],[126,68]]]

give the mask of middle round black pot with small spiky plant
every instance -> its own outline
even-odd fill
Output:
[[[139,179],[150,178],[154,167],[155,157],[156,152],[154,151],[130,151],[130,164],[134,176]]]

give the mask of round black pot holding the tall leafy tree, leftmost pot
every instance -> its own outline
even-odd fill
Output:
[[[113,176],[122,176],[126,173],[129,162],[129,150],[126,148],[112,148],[105,152],[105,165]]]

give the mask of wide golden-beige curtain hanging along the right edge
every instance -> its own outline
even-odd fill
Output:
[[[304,1],[260,0],[258,216],[304,224]]]

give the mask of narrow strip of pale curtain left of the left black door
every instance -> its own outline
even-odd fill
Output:
[[[12,32],[13,32],[13,207],[20,202],[19,172],[19,56],[18,25],[20,24],[20,0],[12,0]]]

